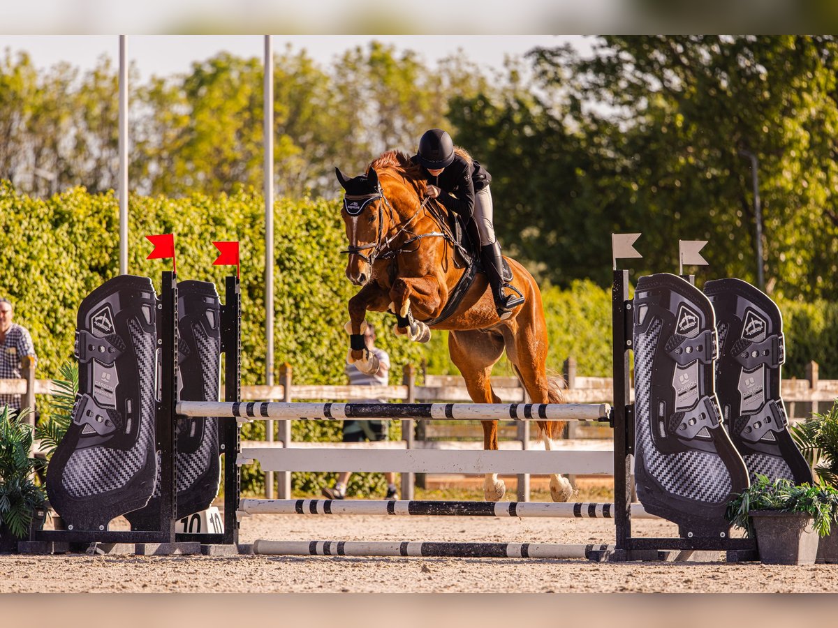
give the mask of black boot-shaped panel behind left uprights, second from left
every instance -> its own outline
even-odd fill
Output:
[[[218,401],[221,357],[221,306],[215,284],[178,283],[178,399]],[[220,482],[219,419],[180,419],[177,425],[177,516],[206,510]],[[160,512],[160,478],[147,506],[128,512],[135,530],[150,529]]]

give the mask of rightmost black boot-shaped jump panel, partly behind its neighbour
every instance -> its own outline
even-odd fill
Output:
[[[783,317],[771,299],[745,281],[707,281],[704,293],[716,310],[719,359],[716,390],[727,431],[751,481],[812,481],[794,445],[780,397],[784,363]]]

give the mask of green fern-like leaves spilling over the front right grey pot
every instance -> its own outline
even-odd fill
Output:
[[[832,523],[838,521],[838,491],[832,486],[795,485],[785,478],[770,481],[768,476],[758,475],[757,481],[728,504],[727,520],[753,538],[750,513],[758,510],[808,514],[814,517],[820,536],[825,537]]]

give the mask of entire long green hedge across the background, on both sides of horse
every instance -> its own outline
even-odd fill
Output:
[[[159,286],[166,260],[145,260],[147,234],[173,233],[181,279],[215,281],[223,289],[229,268],[213,266],[212,240],[241,242],[242,383],[264,382],[264,203],[246,190],[230,196],[137,197],[129,200],[129,270],[151,276]],[[102,281],[118,274],[118,204],[112,193],[75,188],[53,198],[28,198],[0,182],[0,265],[2,291],[15,306],[15,320],[32,332],[39,354],[39,378],[54,378],[71,359],[75,313],[80,301]],[[348,319],[346,301],[354,286],[344,277],[346,258],[339,204],[322,198],[276,203],[274,295],[275,360],[294,369],[297,383],[344,383]],[[543,293],[551,342],[548,367],[561,373],[569,355],[581,375],[611,374],[611,293],[591,281]],[[786,322],[786,377],[803,377],[805,364],[820,363],[821,378],[838,378],[838,306],[781,302]],[[423,347],[390,333],[391,317],[371,315],[380,325],[379,344],[391,355],[391,383],[401,381],[406,363],[427,363],[430,373],[456,373],[447,358],[447,334],[434,332]],[[511,375],[505,362],[495,374]],[[261,423],[246,427],[245,438],[260,438]],[[337,439],[339,425],[296,422],[300,440]],[[398,435],[398,426],[392,427]],[[360,476],[366,489],[380,488],[380,476]],[[370,479],[373,478],[373,479]],[[322,477],[296,474],[295,484],[315,490]],[[261,489],[259,476],[246,473],[248,490]],[[359,486],[360,487],[360,486]],[[351,487],[350,487],[351,488]]]

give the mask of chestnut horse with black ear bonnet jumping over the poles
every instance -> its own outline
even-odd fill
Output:
[[[335,168],[345,190],[341,215],[349,239],[346,276],[360,291],[349,299],[346,331],[350,334],[349,362],[364,373],[378,371],[378,360],[364,347],[366,311],[392,311],[396,333],[427,342],[424,321],[439,317],[448,296],[463,275],[455,264],[456,247],[442,205],[425,195],[426,182],[418,166],[401,152],[385,152],[370,164],[365,175],[348,178]],[[492,366],[506,351],[533,403],[561,403],[561,394],[547,378],[547,329],[541,292],[529,272],[507,258],[510,282],[525,296],[513,315],[501,321],[494,308],[489,282],[479,274],[456,311],[431,329],[450,332],[448,349],[474,403],[500,403],[492,389]],[[498,449],[497,421],[482,421],[484,449]],[[564,422],[538,421],[547,450],[561,435]],[[504,496],[504,482],[487,474],[484,497],[489,502]],[[566,502],[572,487],[566,478],[552,475],[553,501]]]

